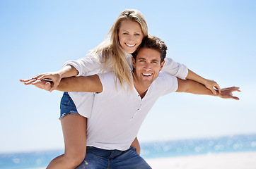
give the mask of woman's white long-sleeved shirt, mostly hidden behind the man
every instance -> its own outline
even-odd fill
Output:
[[[133,68],[132,54],[127,54],[126,60],[130,68]],[[84,76],[98,74],[101,68],[100,61],[89,54],[86,57],[78,59],[77,61],[67,61],[64,63],[64,65],[73,65],[74,68],[78,70],[78,75]],[[112,68],[109,68],[109,70],[112,70]],[[176,63],[171,58],[165,58],[165,64],[163,65],[161,72],[185,79],[185,77],[187,77],[188,70],[185,65]],[[92,93],[85,92],[69,92],[69,96],[71,96],[71,99],[74,101],[78,113],[85,116],[86,118],[89,118],[93,105],[94,95]]]

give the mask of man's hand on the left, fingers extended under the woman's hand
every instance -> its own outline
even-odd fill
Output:
[[[52,82],[47,80],[36,80],[36,79],[30,79],[30,80],[20,80],[25,85],[33,84],[35,87],[38,87],[40,89],[45,89],[46,91],[50,91],[52,89]]]

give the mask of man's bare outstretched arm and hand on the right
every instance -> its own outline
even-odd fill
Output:
[[[219,96],[223,99],[235,99],[239,100],[238,97],[233,96],[232,92],[240,92],[239,87],[228,87],[221,89],[221,93],[216,92],[213,94],[211,90],[207,89],[203,84],[195,82],[193,80],[180,80],[178,79],[178,89],[176,92],[185,92],[191,94],[206,94],[211,96]]]

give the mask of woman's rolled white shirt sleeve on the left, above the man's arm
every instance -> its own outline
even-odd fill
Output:
[[[84,75],[100,69],[100,61],[90,54],[86,55],[86,57],[79,58],[76,61],[66,61],[66,63],[63,64],[63,67],[65,65],[74,66],[74,68],[78,70],[78,75]]]

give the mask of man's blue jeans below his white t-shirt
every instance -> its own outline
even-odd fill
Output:
[[[126,151],[98,149],[87,146],[86,158],[76,169],[151,169],[131,147]]]

